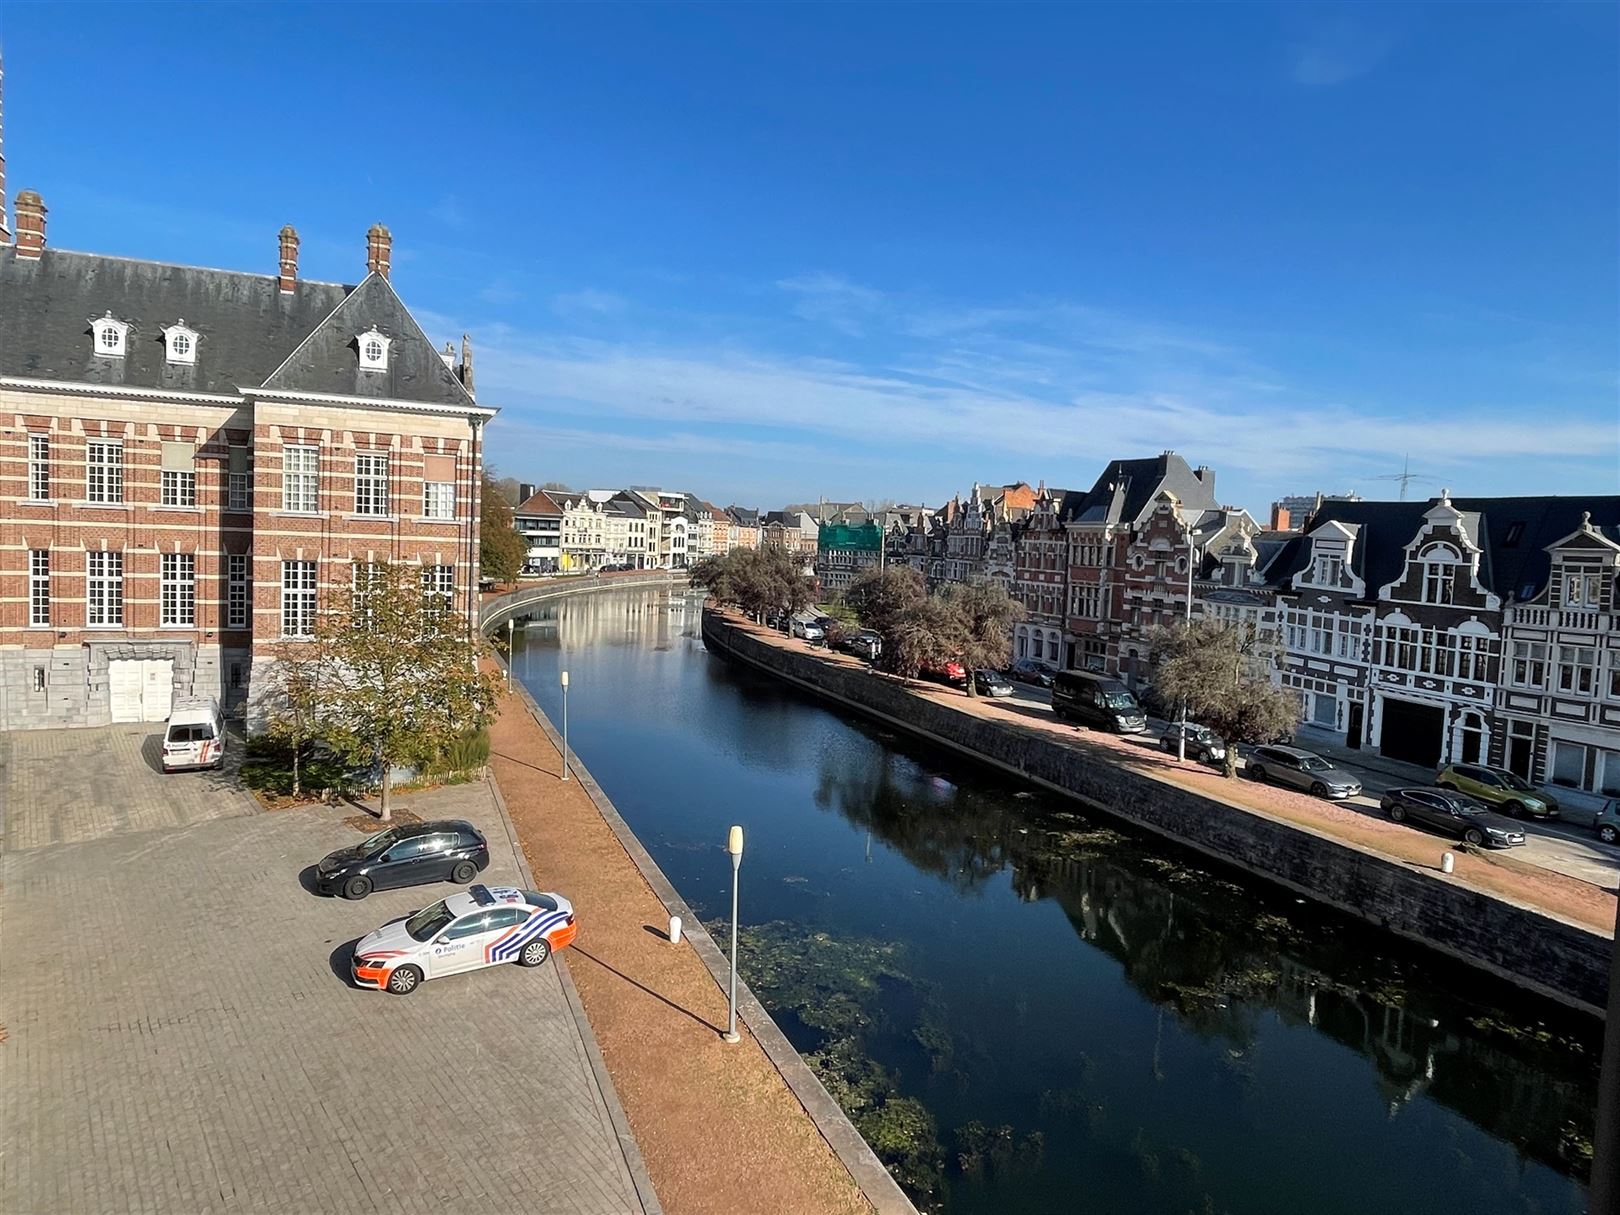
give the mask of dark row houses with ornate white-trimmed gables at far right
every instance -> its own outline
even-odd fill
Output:
[[[1604,795],[1617,528],[1614,497],[1324,502],[1277,578],[1283,684],[1349,747]]]

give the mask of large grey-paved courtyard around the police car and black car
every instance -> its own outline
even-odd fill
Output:
[[[172,776],[162,821],[112,737],[0,857],[0,1212],[643,1210],[556,966],[350,987],[355,940],[452,888],[316,897],[350,808],[209,816]],[[45,802],[53,744],[10,740],[10,804]],[[400,802],[478,823],[486,880],[517,878],[488,786]]]

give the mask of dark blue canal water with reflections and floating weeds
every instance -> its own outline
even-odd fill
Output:
[[[920,1207],[1584,1209],[1594,1021],[711,656],[700,608],[564,599],[514,667],[554,721],[569,671],[708,922],[745,826],[742,974]]]

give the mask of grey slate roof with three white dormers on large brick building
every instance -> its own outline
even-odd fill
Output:
[[[94,353],[91,322],[130,326],[123,358]],[[167,360],[164,329],[198,332],[196,361]],[[356,335],[392,339],[387,371],[360,371]],[[47,248],[0,248],[0,376],[235,395],[238,387],[471,405],[392,284],[300,279]]]

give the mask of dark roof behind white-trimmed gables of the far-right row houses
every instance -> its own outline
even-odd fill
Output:
[[[1427,502],[1324,502],[1311,530],[1324,523],[1358,528],[1351,567],[1366,582],[1367,593],[1400,578],[1406,546],[1422,526],[1424,515],[1440,499]],[[1484,549],[1481,582],[1503,603],[1534,599],[1547,585],[1552,559],[1547,546],[1580,530],[1583,512],[1609,539],[1620,543],[1620,497],[1453,497],[1452,505]],[[1473,517],[1473,518],[1469,518]],[[1286,582],[1311,561],[1311,544],[1291,543],[1288,561],[1273,562],[1277,582]]]

